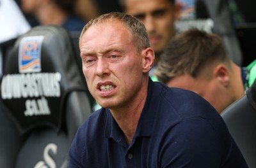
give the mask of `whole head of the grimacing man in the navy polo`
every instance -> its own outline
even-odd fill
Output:
[[[84,26],[79,46],[90,93],[104,108],[138,107],[154,62],[145,26],[125,13],[107,13]]]

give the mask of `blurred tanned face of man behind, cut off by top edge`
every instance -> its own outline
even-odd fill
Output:
[[[143,22],[157,55],[163,52],[175,34],[174,22],[178,12],[169,0],[125,0],[125,13]]]

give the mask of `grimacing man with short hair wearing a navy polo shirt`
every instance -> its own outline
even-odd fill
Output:
[[[194,92],[150,80],[147,31],[125,13],[101,15],[79,42],[90,93],[102,106],[81,125],[69,167],[247,167],[217,111]]]

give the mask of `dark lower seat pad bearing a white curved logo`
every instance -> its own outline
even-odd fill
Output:
[[[28,157],[29,153],[29,157]],[[16,167],[67,167],[68,142],[63,132],[56,134],[52,129],[31,132],[20,149]]]

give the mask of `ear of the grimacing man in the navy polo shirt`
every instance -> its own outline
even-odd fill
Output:
[[[147,73],[150,71],[150,69],[154,65],[154,59],[155,59],[155,53],[152,48],[146,48],[145,50],[142,51],[142,67],[143,67],[143,73]]]

